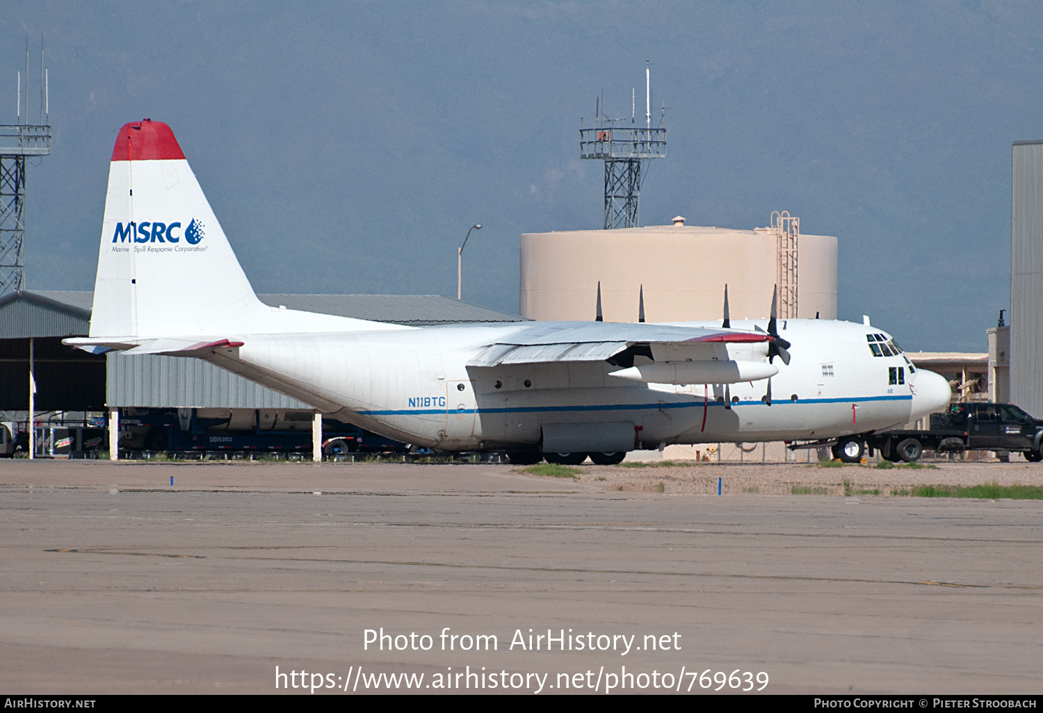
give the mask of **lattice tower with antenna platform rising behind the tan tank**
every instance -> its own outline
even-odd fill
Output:
[[[605,162],[605,229],[637,227],[637,201],[641,195],[641,165],[666,155],[663,117],[652,127],[652,85],[648,60],[645,63],[645,127],[636,124],[634,94],[630,95],[630,121],[609,119],[599,97],[595,128],[583,128],[580,120],[580,158]],[[665,114],[665,108],[663,109]]]

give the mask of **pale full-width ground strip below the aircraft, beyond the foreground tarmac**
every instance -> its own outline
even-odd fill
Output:
[[[640,467],[644,466],[644,467]],[[522,466],[405,463],[181,462],[112,464],[105,461],[7,461],[0,487],[132,487],[321,491],[439,492],[646,492],[717,495],[907,495],[925,485],[1043,486],[1043,463],[974,462],[905,465],[822,466],[807,463],[717,464],[695,462],[578,466],[575,478],[524,473]],[[416,477],[420,475],[420,477]],[[847,486],[845,486],[845,483]],[[877,493],[873,493],[877,491]],[[904,491],[904,492],[903,492]]]

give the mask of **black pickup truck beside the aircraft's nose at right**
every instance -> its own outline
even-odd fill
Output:
[[[831,446],[834,458],[857,463],[867,448],[879,449],[889,461],[912,463],[924,449],[938,452],[996,450],[1023,453],[1026,461],[1043,461],[1040,441],[1043,421],[1026,414],[1013,403],[953,403],[945,413],[930,415],[928,431],[884,431],[801,444],[801,448]],[[791,446],[793,448],[794,446]]]

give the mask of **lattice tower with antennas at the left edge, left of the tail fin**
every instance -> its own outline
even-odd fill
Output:
[[[18,121],[0,125],[0,295],[25,289],[25,159],[51,152],[50,97],[40,42],[40,123],[29,123],[29,41],[18,73]],[[23,99],[24,90],[24,99]],[[23,103],[24,101],[24,103]]]

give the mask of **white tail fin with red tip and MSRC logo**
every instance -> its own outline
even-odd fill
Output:
[[[190,337],[395,328],[262,303],[169,126],[116,139],[98,251],[91,337]],[[401,328],[401,327],[398,327]]]

